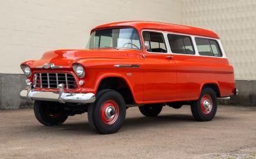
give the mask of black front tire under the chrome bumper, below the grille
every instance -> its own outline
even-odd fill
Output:
[[[68,118],[58,102],[35,101],[34,113],[36,119],[45,126],[61,125]]]

